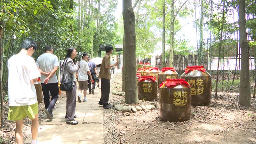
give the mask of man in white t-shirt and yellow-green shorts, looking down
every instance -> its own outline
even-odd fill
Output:
[[[28,116],[32,120],[31,144],[37,144],[38,102],[34,83],[41,75],[35,60],[31,57],[37,50],[37,44],[25,39],[21,51],[8,60],[8,120],[16,121],[15,139],[17,144],[23,143],[23,119]]]

